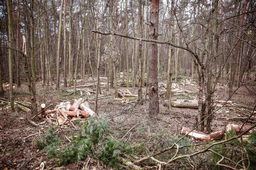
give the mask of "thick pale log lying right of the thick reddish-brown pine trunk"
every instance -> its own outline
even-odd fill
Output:
[[[164,106],[169,106],[168,100],[164,101]],[[198,102],[197,100],[176,100],[171,101],[171,107],[198,109]]]

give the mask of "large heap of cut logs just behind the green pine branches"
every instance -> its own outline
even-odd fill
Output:
[[[75,100],[72,105],[69,101],[61,102],[52,110],[45,110],[45,104],[43,103],[41,104],[41,115],[39,115],[39,118],[50,124],[63,125],[69,123],[69,121],[77,120],[77,118],[88,118],[89,116],[95,117],[96,114],[90,109],[89,103],[80,98]],[[69,117],[72,119],[69,120]]]

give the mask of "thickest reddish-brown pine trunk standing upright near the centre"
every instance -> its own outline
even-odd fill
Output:
[[[150,0],[150,25],[149,38],[158,39],[158,21],[159,21],[159,0]],[[159,114],[158,100],[158,80],[157,80],[157,44],[149,43],[149,115],[154,116]]]

